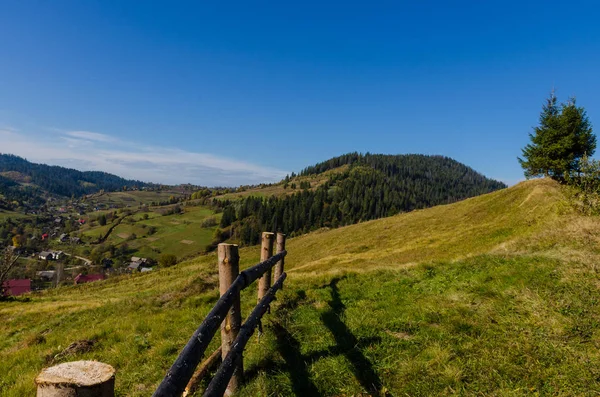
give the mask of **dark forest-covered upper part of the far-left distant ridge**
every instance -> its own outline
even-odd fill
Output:
[[[71,168],[35,164],[12,154],[1,153],[0,176],[3,177],[0,180],[0,188],[7,188],[9,183],[6,183],[6,180],[10,179],[59,196],[81,196],[99,190],[112,191],[123,186],[146,185],[144,182],[123,179],[106,172],[77,171]]]

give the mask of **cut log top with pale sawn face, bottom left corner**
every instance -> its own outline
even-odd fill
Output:
[[[74,361],[44,369],[37,397],[114,397],[115,369],[98,361]]]

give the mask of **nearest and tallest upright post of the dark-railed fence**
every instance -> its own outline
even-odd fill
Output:
[[[219,292],[221,296],[227,292],[227,289],[240,273],[240,255],[238,246],[235,244],[219,244]],[[227,312],[225,320],[221,323],[221,357],[225,359],[235,338],[237,338],[242,326],[242,313],[240,308],[240,294],[233,299],[231,309]],[[235,393],[241,383],[244,375],[243,357],[240,355],[235,364],[235,370],[231,381],[227,385],[225,395],[229,396]]]

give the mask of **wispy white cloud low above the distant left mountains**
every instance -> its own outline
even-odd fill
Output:
[[[287,172],[209,153],[148,146],[89,131],[33,136],[0,127],[0,152],[30,161],[110,172],[157,183],[237,186],[274,182]]]

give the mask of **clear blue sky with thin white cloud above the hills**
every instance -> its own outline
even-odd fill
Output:
[[[442,154],[512,184],[552,87],[600,122],[596,3],[0,0],[0,152],[205,185]]]

